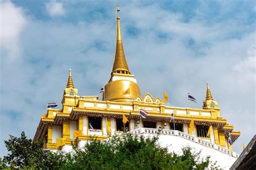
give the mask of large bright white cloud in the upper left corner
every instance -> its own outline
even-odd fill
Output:
[[[26,18],[21,8],[10,1],[0,2],[0,45],[1,55],[9,60],[15,60],[21,56],[21,44],[19,38],[26,24]]]

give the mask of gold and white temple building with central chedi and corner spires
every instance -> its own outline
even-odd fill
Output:
[[[140,109],[147,112],[145,119],[141,119]],[[173,121],[170,123],[172,113],[175,124]],[[166,139],[176,137],[175,140],[182,139],[191,145],[213,149],[212,152],[216,150],[237,157],[232,151],[232,144],[240,132],[233,131],[234,127],[220,116],[220,108],[213,100],[208,83],[203,109],[166,106],[162,99],[153,98],[150,93],[141,96],[137,80],[125,59],[120,18],[117,17],[116,55],[102,100],[98,96],[78,96],[69,70],[62,108],[48,108],[41,117],[33,140],[43,140],[45,148],[69,151],[72,143],[83,146],[90,136],[102,140],[109,135],[123,133],[123,115],[129,119],[125,130],[130,133],[160,133],[166,135]],[[229,134],[231,145],[228,144]],[[63,142],[58,143],[58,139]],[[167,142],[172,143],[171,140]]]

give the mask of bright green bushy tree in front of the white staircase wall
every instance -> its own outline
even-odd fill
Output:
[[[158,138],[126,133],[110,140],[91,140],[83,148],[73,147],[62,169],[205,169],[210,157],[200,160],[200,153],[183,148],[183,154],[169,153]]]

